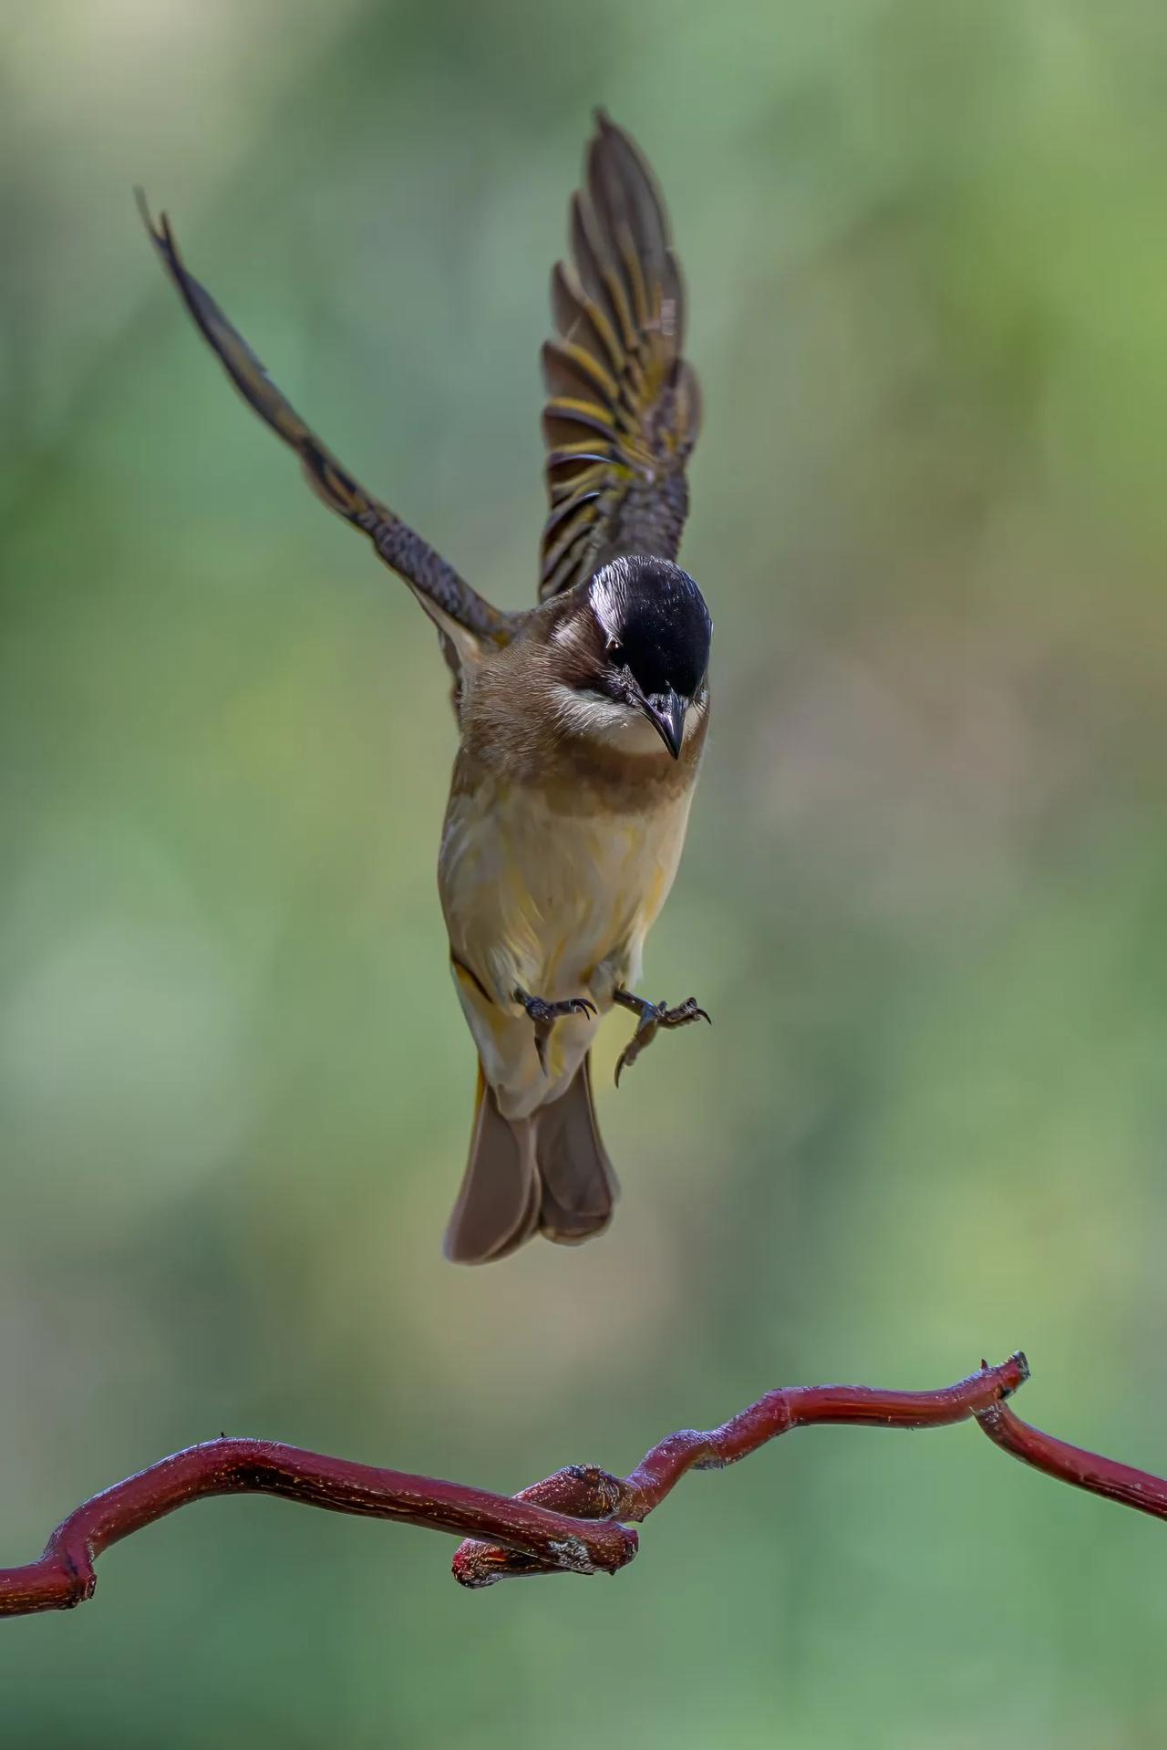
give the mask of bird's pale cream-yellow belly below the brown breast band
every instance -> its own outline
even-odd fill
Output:
[[[644,938],[677,872],[689,802],[686,791],[640,814],[563,814],[541,789],[493,777],[451,798],[439,891],[455,984],[506,1116],[558,1097],[597,1027],[583,1015],[558,1020],[544,1074],[514,990],[548,1001],[583,996],[604,1013],[618,985],[635,987]]]

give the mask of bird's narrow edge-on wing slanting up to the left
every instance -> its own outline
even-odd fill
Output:
[[[392,565],[404,578],[425,611],[437,623],[446,656],[451,658],[453,649],[465,654],[474,640],[506,644],[511,635],[509,618],[492,607],[429,542],[422,541],[413,528],[366,492],[348,469],[338,462],[332,452],[320,443],[290,402],[283,399],[252,348],[231,327],[210,292],[187,273],[166,215],[161,214],[159,222],[154,224],[142,192],[138,192],[138,206],[163,266],[178,287],[203,340],[219,357],[238,392],[259,413],[261,420],[285,444],[296,450],[308,476],[308,485],[324,499],[327,508],[355,528],[364,530],[385,564]],[[451,663],[451,667],[457,667],[457,663]]]

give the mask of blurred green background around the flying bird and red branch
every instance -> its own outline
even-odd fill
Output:
[[[1167,60],[1141,0],[40,0],[0,52],[0,1559],[227,1430],[513,1489],[779,1382],[1167,1465]],[[455,1270],[436,642],[129,198],[506,606],[590,108],[665,184],[716,726],[612,1232]],[[971,1428],[695,1477],[616,1584],[198,1507],[19,1746],[1151,1746],[1162,1531]]]

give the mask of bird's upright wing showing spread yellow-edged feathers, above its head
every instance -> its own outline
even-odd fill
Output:
[[[572,196],[570,257],[574,273],[558,262],[551,275],[562,340],[542,348],[551,514],[541,598],[621,553],[677,556],[700,425],[668,219],[647,164],[602,110]]]

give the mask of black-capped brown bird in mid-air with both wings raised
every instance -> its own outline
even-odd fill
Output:
[[[479,1071],[446,1256],[502,1258],[535,1232],[590,1239],[618,1195],[591,1099],[600,1015],[637,1017],[618,1082],[660,1029],[709,1018],[693,998],[668,1008],[635,994],[684,844],[710,646],[702,592],[675,564],[700,401],[653,175],[600,112],[570,203],[572,268],[551,275],[549,514],[525,612],[492,607],[353,480],[187,273],[166,217],[156,226],[140,205],[234,387],[409,584],[453,672],[458,754],[437,875]]]

